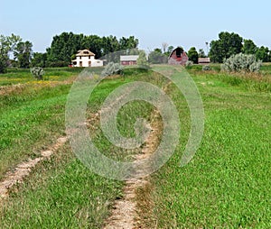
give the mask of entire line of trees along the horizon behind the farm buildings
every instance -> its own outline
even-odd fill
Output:
[[[23,41],[20,36],[0,35],[0,73],[5,72],[7,67],[18,68],[30,67],[64,67],[75,59],[78,50],[88,49],[96,54],[96,58],[106,56],[108,53],[118,50],[135,50],[138,48],[138,39],[134,36],[117,39],[116,36],[99,37],[98,35],[74,34],[62,32],[52,38],[51,46],[46,52],[33,52],[31,41]],[[208,44],[208,43],[206,43]],[[162,48],[151,50],[148,61],[152,64],[167,63],[174,47],[166,42]],[[125,52],[126,54],[129,52]],[[210,41],[210,52],[205,54],[203,49],[199,51],[195,47],[188,50],[189,60],[198,63],[199,58],[210,57],[211,62],[222,63],[232,55],[244,53],[253,54],[257,60],[271,61],[271,50],[265,46],[257,47],[252,40],[243,39],[234,32],[220,32],[219,39]],[[10,59],[13,54],[13,60]],[[129,53],[129,54],[132,54]],[[134,53],[138,54],[138,53]]]

